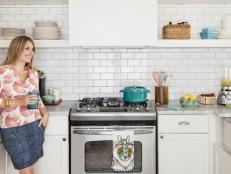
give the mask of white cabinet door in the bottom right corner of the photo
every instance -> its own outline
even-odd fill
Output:
[[[231,152],[221,145],[215,145],[215,174],[230,174]]]

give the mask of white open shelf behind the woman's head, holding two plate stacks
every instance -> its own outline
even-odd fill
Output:
[[[8,48],[11,40],[0,40],[0,48]],[[34,40],[36,48],[68,47],[68,40]]]

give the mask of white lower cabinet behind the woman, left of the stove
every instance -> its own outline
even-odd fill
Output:
[[[44,156],[35,165],[35,174],[68,174],[68,113],[50,113],[43,144]],[[6,167],[7,166],[7,167]],[[0,144],[0,174],[18,174]]]

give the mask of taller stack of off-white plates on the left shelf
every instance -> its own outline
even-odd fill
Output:
[[[37,40],[56,40],[61,38],[60,28],[55,21],[35,21],[33,38]]]

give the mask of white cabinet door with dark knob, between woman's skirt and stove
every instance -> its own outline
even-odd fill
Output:
[[[67,136],[45,136],[44,156],[35,167],[36,174],[68,174]]]

